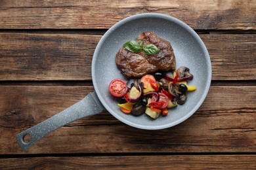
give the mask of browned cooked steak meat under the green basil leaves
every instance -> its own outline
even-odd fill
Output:
[[[139,78],[158,70],[175,70],[176,59],[170,42],[149,31],[140,33],[137,42],[140,43],[141,41],[143,41],[143,46],[154,44],[160,49],[160,52],[158,54],[147,55],[143,51],[135,53],[130,52],[125,47],[121,47],[116,54],[116,65],[123,75],[127,78]]]

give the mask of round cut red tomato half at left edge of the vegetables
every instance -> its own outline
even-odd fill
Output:
[[[128,87],[124,80],[116,78],[110,82],[108,90],[114,97],[122,97],[125,95],[125,93],[127,93]]]

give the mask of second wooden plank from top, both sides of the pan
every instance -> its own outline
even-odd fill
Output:
[[[0,33],[0,80],[91,80],[91,60],[101,37]],[[209,50],[213,80],[256,79],[255,34],[200,37]]]

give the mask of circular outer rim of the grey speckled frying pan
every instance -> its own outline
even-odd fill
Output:
[[[205,54],[205,59],[207,61],[207,63],[206,63],[207,64],[207,84],[205,84],[205,90],[203,91],[203,95],[200,98],[200,100],[198,101],[198,103],[194,106],[194,108],[192,110],[190,110],[190,112],[188,112],[188,114],[186,114],[185,116],[183,116],[179,120],[176,120],[175,122],[170,122],[169,124],[163,124],[163,125],[160,125],[160,126],[145,126],[145,125],[142,125],[142,124],[136,124],[136,123],[130,122],[128,120],[125,120],[125,118],[119,116],[119,114],[117,114],[116,112],[112,112],[112,108],[109,105],[107,105],[107,103],[102,102],[102,101],[104,101],[104,97],[100,94],[100,91],[99,91],[98,86],[97,86],[96,81],[95,81],[96,58],[98,56],[98,53],[100,52],[100,48],[102,47],[103,42],[105,41],[105,39],[107,39],[108,36],[113,31],[115,31],[115,29],[117,27],[125,24],[126,22],[130,22],[131,20],[136,20],[136,19],[141,19],[141,18],[148,18],[148,17],[166,19],[166,20],[169,20],[171,22],[175,22],[176,24],[181,25],[182,27],[184,27],[184,29],[186,29],[196,39],[196,41],[200,44],[200,46],[203,50],[203,53]],[[159,14],[159,13],[135,14],[133,16],[129,16],[127,18],[124,18],[123,20],[117,22],[112,27],[110,27],[110,29],[108,29],[108,31],[106,31],[106,33],[102,36],[102,38],[100,39],[100,41],[98,42],[98,44],[95,48],[95,52],[93,54],[93,61],[92,61],[92,68],[91,69],[92,69],[93,86],[95,87],[95,92],[98,95],[98,98],[100,99],[100,102],[102,103],[102,105],[104,105],[104,107],[106,108],[106,110],[108,110],[108,112],[110,112],[110,114],[112,114],[114,117],[116,117],[121,122],[123,122],[123,123],[125,123],[129,126],[137,127],[137,128],[140,128],[140,129],[150,129],[150,130],[165,129],[165,128],[172,127],[172,126],[175,126],[177,124],[180,124],[181,122],[184,122],[184,120],[186,120],[190,116],[192,116],[192,114],[194,114],[194,112],[196,112],[196,110],[198,110],[199,107],[202,105],[203,101],[205,100],[205,98],[207,96],[207,93],[209,92],[209,88],[210,88],[210,84],[211,84],[211,60],[210,60],[207,48],[206,48],[205,44],[203,43],[202,39],[199,37],[199,35],[191,27],[189,27],[187,24],[185,24],[181,20],[178,20],[177,18],[174,18],[172,16],[168,16],[168,15],[165,15],[165,14]]]

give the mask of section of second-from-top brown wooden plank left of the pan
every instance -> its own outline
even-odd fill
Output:
[[[0,34],[1,80],[91,80],[101,36]]]

